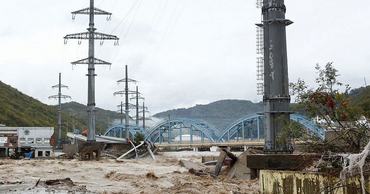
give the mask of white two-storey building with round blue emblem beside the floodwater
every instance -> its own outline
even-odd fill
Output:
[[[53,156],[53,147],[54,127],[0,127],[1,155],[15,149],[34,153],[34,157],[48,157]]]

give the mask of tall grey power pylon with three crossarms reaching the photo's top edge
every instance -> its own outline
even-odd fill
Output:
[[[89,40],[89,55],[88,58],[81,59],[75,62],[75,64],[88,64],[88,91],[87,91],[87,142],[95,142],[95,64],[105,64],[111,65],[111,63],[97,59],[94,57],[94,40],[100,40],[100,44],[103,44],[104,40],[115,40],[114,45],[118,45],[118,37],[109,34],[97,33],[94,28],[94,14],[97,15],[107,15],[107,20],[110,20],[111,13],[107,11],[100,10],[94,7],[94,0],[90,0],[90,7],[84,8],[82,10],[72,12],[72,19],[75,18],[76,14],[88,14],[89,19],[89,28],[88,32],[77,33],[77,34],[68,34],[64,37],[64,44],[67,43],[68,39],[78,39],[78,43],[81,43],[82,39]]]

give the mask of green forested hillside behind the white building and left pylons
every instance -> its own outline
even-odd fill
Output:
[[[57,103],[57,101],[55,101]],[[57,130],[58,109],[53,105],[46,105],[37,99],[12,88],[10,85],[0,81],[0,124],[6,126],[27,126],[27,127],[54,127]],[[74,120],[77,129],[85,129],[87,123],[87,106],[77,102],[64,103],[62,105],[62,137],[65,137],[67,129],[71,132],[72,120]],[[117,118],[120,113],[97,108],[96,112],[96,130],[100,132],[108,126],[108,116]],[[72,118],[72,113],[75,117]],[[107,115],[105,115],[107,113]],[[107,124],[105,124],[107,123]],[[56,133],[55,133],[56,134]]]

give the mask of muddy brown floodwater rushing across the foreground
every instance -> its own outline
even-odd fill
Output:
[[[151,158],[116,162],[76,160],[0,160],[0,193],[57,194],[252,194],[258,180],[244,181],[219,176],[194,176],[178,165],[179,159],[201,162],[215,152],[164,152]],[[35,186],[41,178],[38,186]],[[74,186],[46,186],[47,179],[71,178]]]

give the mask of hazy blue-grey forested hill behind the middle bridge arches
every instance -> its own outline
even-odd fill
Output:
[[[209,103],[208,105],[196,105],[187,109],[167,110],[153,116],[163,119],[168,118],[168,115],[170,115],[170,117],[201,119],[221,131],[234,120],[249,113],[262,110],[262,102],[253,103],[245,100],[221,100]]]

